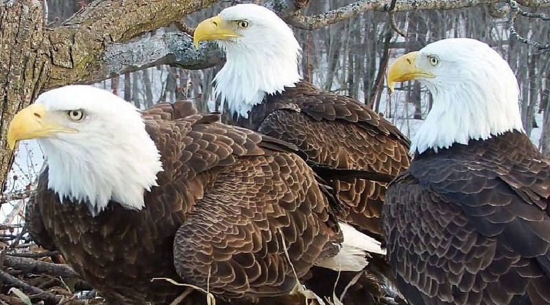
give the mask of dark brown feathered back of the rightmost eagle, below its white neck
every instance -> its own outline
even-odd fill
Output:
[[[550,304],[549,204],[550,162],[525,134],[418,155],[384,206],[401,292],[412,304]]]

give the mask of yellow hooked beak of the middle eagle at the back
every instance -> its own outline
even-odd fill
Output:
[[[199,48],[199,42],[206,40],[230,40],[231,38],[239,38],[240,34],[234,31],[232,22],[225,22],[221,17],[214,16],[206,19],[197,25],[195,34],[193,35],[193,43]]]

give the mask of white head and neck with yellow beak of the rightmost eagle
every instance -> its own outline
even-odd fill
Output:
[[[432,110],[412,138],[411,152],[467,144],[511,130],[523,132],[519,88],[508,63],[470,38],[433,42],[390,66],[388,86],[419,80],[433,97]]]

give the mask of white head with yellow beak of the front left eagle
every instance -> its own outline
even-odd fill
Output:
[[[159,151],[140,112],[109,91],[65,86],[41,94],[10,123],[8,143],[36,138],[50,167],[48,187],[89,206],[96,216],[109,200],[144,207],[157,185]]]

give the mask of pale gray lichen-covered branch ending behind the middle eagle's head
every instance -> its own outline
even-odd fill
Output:
[[[170,32],[107,47],[104,75],[120,75],[146,69],[157,64],[170,64],[184,69],[206,69],[225,61],[223,52],[214,43],[195,49],[192,38],[182,32]]]

